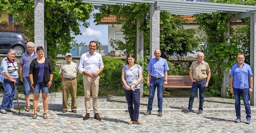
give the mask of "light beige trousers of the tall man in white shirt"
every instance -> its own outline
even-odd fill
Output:
[[[92,89],[92,106],[93,112],[98,113],[98,92],[99,92],[99,80],[100,76],[89,77],[86,74],[83,74],[84,82],[84,105],[86,113],[90,113],[90,91]]]

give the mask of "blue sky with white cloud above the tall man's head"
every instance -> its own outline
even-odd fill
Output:
[[[94,10],[94,13],[99,12],[99,10]],[[91,16],[90,26],[88,28],[80,27],[82,35],[75,36],[75,40],[78,44],[85,42],[88,46],[90,41],[98,39],[102,45],[108,45],[108,26],[107,25],[98,25],[96,26],[93,21],[94,18]]]

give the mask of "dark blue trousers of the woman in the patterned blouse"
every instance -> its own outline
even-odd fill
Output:
[[[130,114],[131,121],[137,122],[140,113],[140,89],[135,89],[135,91],[128,91],[127,89],[124,89],[124,95],[128,103],[128,111]]]

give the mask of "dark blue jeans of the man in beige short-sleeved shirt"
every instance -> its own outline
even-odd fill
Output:
[[[198,108],[198,110],[203,110],[205,83],[206,83],[206,80],[196,81],[196,82],[192,83],[192,88],[191,88],[189,102],[188,102],[188,109],[192,110],[196,91],[199,88],[199,108]]]

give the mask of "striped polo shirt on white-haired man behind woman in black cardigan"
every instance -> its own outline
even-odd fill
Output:
[[[22,77],[29,77],[29,68],[32,60],[38,58],[38,55],[34,51],[34,54],[28,54],[28,51],[23,53],[20,58],[20,65],[22,65]]]

